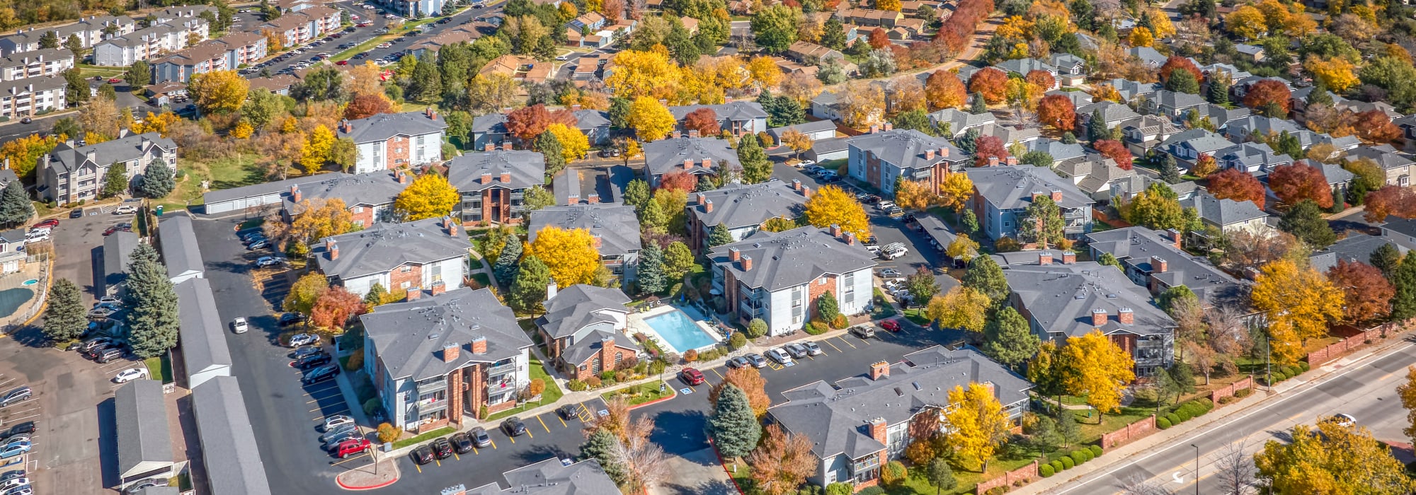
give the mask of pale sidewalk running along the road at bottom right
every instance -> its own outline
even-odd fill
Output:
[[[1171,443],[1174,443],[1178,438],[1184,438],[1184,437],[1188,437],[1188,436],[1195,434],[1198,431],[1202,431],[1205,429],[1209,429],[1211,426],[1214,426],[1214,424],[1216,424],[1219,421],[1223,421],[1226,419],[1231,419],[1231,417],[1235,417],[1235,416],[1239,416],[1239,414],[1247,414],[1247,413],[1252,412],[1253,407],[1262,406],[1262,404],[1264,404],[1269,400],[1281,399],[1286,392],[1290,392],[1290,390],[1303,388],[1306,385],[1318,382],[1318,380],[1327,378],[1328,375],[1332,375],[1332,373],[1335,373],[1338,371],[1342,371],[1342,369],[1348,368],[1349,365],[1352,365],[1355,362],[1359,362],[1359,361],[1368,359],[1371,356],[1379,355],[1382,352],[1386,352],[1386,351],[1389,351],[1391,348],[1393,348],[1393,346],[1396,346],[1399,344],[1406,344],[1408,342],[1408,339],[1406,339],[1408,337],[1410,337],[1409,332],[1395,334],[1391,338],[1388,338],[1388,341],[1383,342],[1382,345],[1366,348],[1366,349],[1362,349],[1362,351],[1359,351],[1357,354],[1348,355],[1348,356],[1345,356],[1342,359],[1337,359],[1337,361],[1332,361],[1332,362],[1330,362],[1327,365],[1314,368],[1314,369],[1308,371],[1307,373],[1304,373],[1303,376],[1298,376],[1298,378],[1294,378],[1294,379],[1289,379],[1289,380],[1283,380],[1279,385],[1274,385],[1270,390],[1260,390],[1260,389],[1255,388],[1256,393],[1250,395],[1249,397],[1245,397],[1245,399],[1242,399],[1239,402],[1233,402],[1233,403],[1231,403],[1228,406],[1215,409],[1212,413],[1205,414],[1205,416],[1199,416],[1195,420],[1181,423],[1181,424],[1174,426],[1174,427],[1171,427],[1168,430],[1158,430],[1157,433],[1154,433],[1151,436],[1147,436],[1144,438],[1136,440],[1136,441],[1129,443],[1129,444],[1121,446],[1121,447],[1112,448],[1106,454],[1102,454],[1102,457],[1097,457],[1099,462],[1086,462],[1086,464],[1078,465],[1078,467],[1075,467],[1072,470],[1068,470],[1066,475],[1058,474],[1058,475],[1054,475],[1051,478],[1038,478],[1038,479],[1035,479],[1035,481],[1032,481],[1032,482],[1029,482],[1029,484],[1027,484],[1027,485],[1015,489],[1014,492],[1015,494],[1048,494],[1048,492],[1052,492],[1054,489],[1062,488],[1062,487],[1065,487],[1065,485],[1068,485],[1068,484],[1070,484],[1073,481],[1078,481],[1078,479],[1080,479],[1083,477],[1092,477],[1092,475],[1096,475],[1096,474],[1110,472],[1113,470],[1120,468],[1123,464],[1129,462],[1136,455],[1155,453],[1157,447],[1163,447],[1163,446],[1171,444]]]

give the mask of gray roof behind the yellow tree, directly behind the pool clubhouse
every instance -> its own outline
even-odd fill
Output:
[[[617,202],[593,205],[547,206],[531,212],[527,242],[535,242],[537,233],[547,226],[562,229],[586,229],[600,239],[600,255],[627,255],[639,252],[639,216],[634,206]]]

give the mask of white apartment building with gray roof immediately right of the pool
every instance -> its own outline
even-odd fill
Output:
[[[758,231],[707,255],[712,287],[724,294],[733,322],[767,322],[767,335],[806,327],[821,294],[833,293],[840,311],[854,315],[871,304],[875,255],[838,226]]]

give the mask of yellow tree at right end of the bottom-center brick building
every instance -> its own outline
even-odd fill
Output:
[[[988,471],[988,458],[1008,437],[1008,414],[987,386],[970,382],[964,389],[956,385],[949,390],[949,409],[944,410],[944,441],[954,448],[960,464],[967,470]]]

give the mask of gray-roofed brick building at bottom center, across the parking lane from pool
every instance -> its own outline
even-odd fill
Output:
[[[956,386],[984,385],[1010,420],[1028,410],[1032,383],[974,348],[935,345],[903,358],[871,363],[867,373],[834,383],[783,392],[786,402],[767,409],[772,423],[810,440],[814,465],[807,481],[877,482],[886,462],[903,457],[913,417],[943,414]]]

